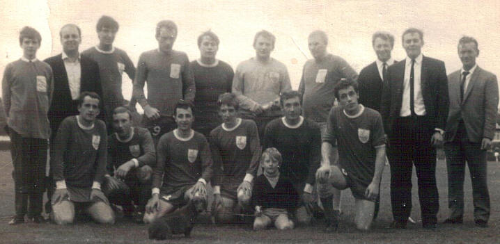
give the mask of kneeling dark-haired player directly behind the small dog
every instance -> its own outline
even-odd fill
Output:
[[[173,109],[177,129],[159,138],[153,197],[144,215],[146,223],[175,211],[195,196],[206,201],[206,184],[212,178],[210,146],[203,134],[191,129],[192,103],[180,100]]]

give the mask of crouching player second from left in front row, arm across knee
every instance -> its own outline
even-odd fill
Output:
[[[132,113],[123,106],[113,111],[115,133],[108,138],[109,174],[104,182],[108,186],[113,182],[108,177],[125,181],[130,188],[130,197],[117,195],[123,192],[124,189],[121,188],[107,193],[107,197],[111,203],[122,206],[125,218],[142,222],[146,203],[151,197],[151,174],[156,165],[156,152],[151,133],[147,129],[132,127],[131,115]],[[134,205],[137,205],[138,209],[135,209]]]

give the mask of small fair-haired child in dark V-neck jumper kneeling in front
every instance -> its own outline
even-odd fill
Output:
[[[292,229],[289,217],[297,209],[299,194],[292,182],[279,173],[281,154],[274,147],[265,149],[260,158],[263,174],[256,178],[253,186],[251,206],[256,218],[253,229],[265,229],[274,224],[278,229]]]

